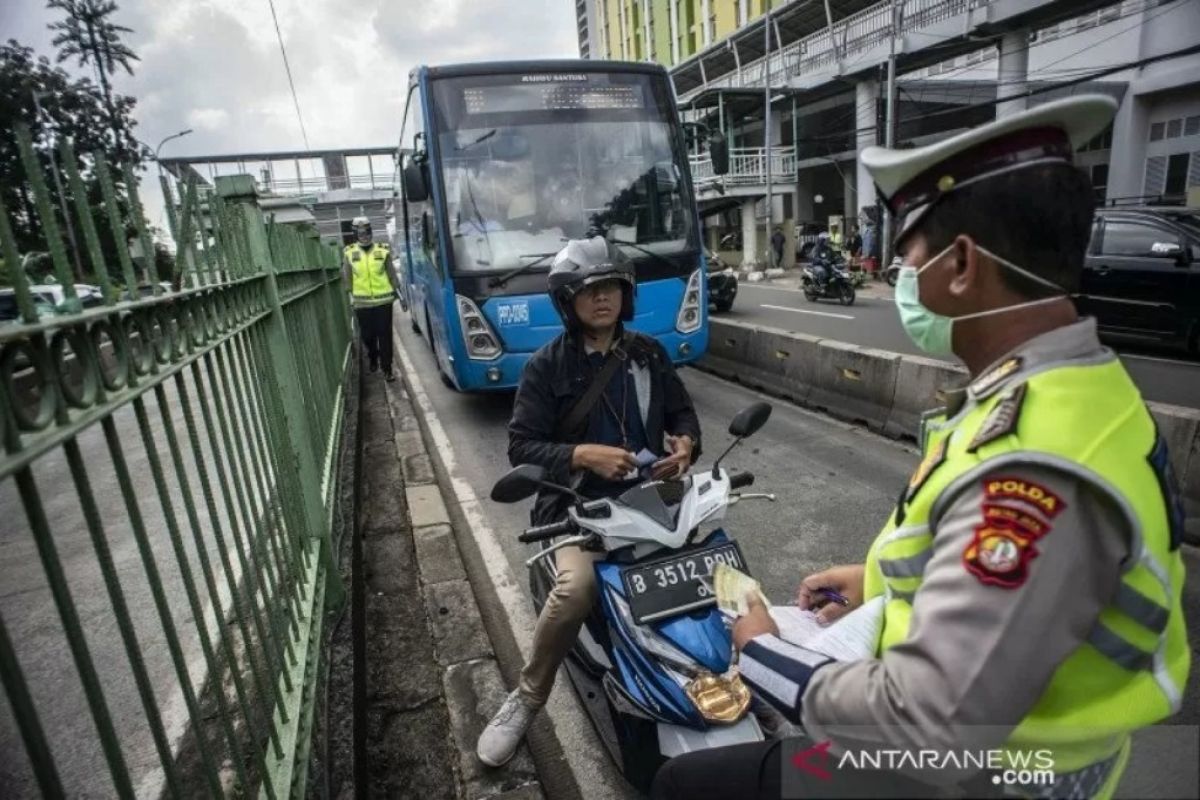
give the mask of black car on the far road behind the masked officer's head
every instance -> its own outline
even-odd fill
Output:
[[[1200,211],[1098,209],[1075,305],[1102,331],[1200,349]]]

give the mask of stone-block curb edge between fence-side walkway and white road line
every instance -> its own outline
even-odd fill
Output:
[[[467,581],[467,570],[451,529],[450,511],[431,468],[414,404],[398,384],[384,386],[396,434],[396,456],[403,465],[404,500],[413,531],[421,602],[440,668],[438,690],[445,697],[450,736],[458,754],[458,796],[464,800],[542,798],[533,759],[524,747],[499,769],[485,768],[475,758],[475,741],[491,714],[504,702],[506,690],[482,614]]]

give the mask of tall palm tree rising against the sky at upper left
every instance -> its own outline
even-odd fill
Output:
[[[118,11],[112,0],[50,0],[46,7],[66,13],[66,19],[48,25],[52,31],[56,31],[52,43],[59,48],[59,64],[77,59],[79,66],[90,65],[96,71],[116,151],[122,152],[126,142],[132,143],[133,136],[124,128],[124,120],[113,100],[109,76],[116,73],[116,67],[124,67],[127,73],[133,74],[130,62],[139,59],[121,42],[121,34],[132,34],[133,30],[109,19]]]

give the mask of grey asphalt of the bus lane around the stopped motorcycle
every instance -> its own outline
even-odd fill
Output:
[[[776,296],[784,294],[774,293]],[[770,300],[766,291],[755,294]],[[738,300],[743,313],[750,296],[748,291]],[[882,307],[881,301],[876,305]],[[838,309],[829,307],[828,311]],[[475,487],[480,511],[499,533],[504,555],[524,591],[524,559],[529,553],[516,536],[528,525],[528,506],[500,505],[487,499],[492,483],[509,469],[505,423],[511,411],[511,395],[462,395],[446,389],[436,375],[428,347],[409,330],[406,314],[397,314],[396,329],[449,437],[455,463],[452,477]],[[685,369],[683,377],[704,432],[701,464],[710,464],[730,443],[726,427],[732,416],[750,403],[770,398],[697,369]],[[786,603],[794,596],[804,575],[832,564],[863,559],[892,510],[896,488],[914,468],[917,452],[863,428],[832,421],[786,402],[770,402],[774,404],[770,421],[726,463],[754,471],[757,476],[755,489],[775,492],[779,501],[733,507],[726,529],[742,545],[751,571],[762,581],[768,596]],[[1187,588],[1184,607],[1200,608],[1200,584],[1194,579],[1200,573],[1200,553],[1189,549],[1186,558],[1193,581]],[[1192,616],[1190,627],[1195,646],[1200,642],[1198,615]],[[1200,723],[1200,681],[1195,675],[1193,670],[1184,710],[1175,722]],[[602,752],[586,720],[581,717],[577,724],[584,729],[581,735]],[[1145,752],[1139,752],[1136,768],[1124,784],[1127,790],[1122,794],[1126,796],[1146,796],[1151,786],[1176,772],[1165,753],[1148,746],[1141,751]],[[606,772],[599,783],[584,787],[584,796],[611,796],[611,787],[620,786],[616,770],[611,765],[604,769]],[[605,788],[596,788],[601,784]]]

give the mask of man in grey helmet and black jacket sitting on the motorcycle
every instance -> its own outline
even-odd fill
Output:
[[[634,265],[601,236],[572,240],[554,257],[550,297],[566,329],[529,359],[509,422],[509,461],[544,467],[547,480],[587,498],[612,498],[644,480],[636,453],[658,458],[655,480],[679,477],[700,456],[700,420],[666,349],[623,323],[634,319]],[[540,492],[530,519],[562,519],[570,498]],[[517,688],[484,729],[479,759],[499,766],[545,705],[596,595],[602,553],[556,553],[557,582],[533,634]]]

